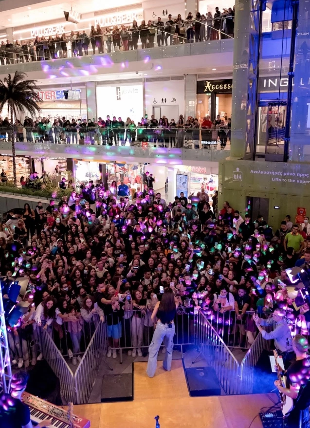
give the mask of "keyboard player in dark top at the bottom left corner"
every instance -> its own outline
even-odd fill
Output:
[[[0,396],[0,427],[1,428],[33,428],[30,420],[29,407],[21,401],[28,381],[26,372],[18,372],[12,376],[11,394]],[[36,428],[48,427],[52,419],[39,422]]]

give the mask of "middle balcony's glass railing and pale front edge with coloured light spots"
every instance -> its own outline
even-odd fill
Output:
[[[213,131],[213,132],[212,132]],[[230,156],[229,130],[223,130],[219,139],[215,138],[215,130],[162,130],[137,129],[138,141],[133,141],[128,133],[107,136],[104,131],[96,130],[78,134],[63,134],[64,141],[49,135],[38,135],[29,128],[24,129],[24,136],[17,134],[15,143],[16,155],[36,158],[66,158],[85,161],[110,161],[127,163],[152,163],[165,165],[201,166],[204,162],[219,162]],[[218,133],[218,131],[216,131]],[[5,132],[0,132],[1,155],[12,154],[12,145],[7,141]],[[112,133],[113,135],[113,133]],[[82,138],[81,138],[82,137]],[[119,140],[120,137],[120,140]],[[125,141],[125,138],[127,141]],[[28,142],[27,142],[28,139]],[[75,144],[73,144],[73,141]],[[77,141],[77,143],[76,143]],[[108,143],[108,144],[107,144]],[[109,145],[111,144],[111,145]]]

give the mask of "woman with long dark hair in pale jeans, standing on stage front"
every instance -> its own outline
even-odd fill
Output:
[[[179,303],[174,298],[171,288],[166,288],[160,302],[156,303],[151,320],[156,324],[152,342],[148,348],[148,362],[146,373],[153,377],[157,369],[157,355],[164,341],[166,353],[164,354],[164,370],[171,370],[173,336],[175,335],[174,317]]]

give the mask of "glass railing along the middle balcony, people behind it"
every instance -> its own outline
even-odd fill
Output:
[[[53,120],[53,119],[52,119]],[[178,120],[176,118],[175,120]],[[226,125],[216,129],[178,128],[83,128],[26,127],[14,130],[18,142],[51,144],[79,144],[102,146],[177,147],[186,149],[223,149],[230,140]],[[0,141],[10,141],[10,130],[0,128]]]

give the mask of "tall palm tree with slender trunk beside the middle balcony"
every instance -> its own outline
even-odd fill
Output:
[[[17,113],[24,114],[25,112],[35,116],[37,112],[41,111],[38,105],[40,101],[38,91],[40,89],[36,86],[37,81],[25,80],[25,77],[27,77],[27,74],[16,71],[13,78],[11,74],[8,74],[3,81],[0,80],[0,113],[7,104],[8,115],[11,119],[10,139],[12,142],[14,186],[17,185],[17,179],[13,117],[16,119]]]

